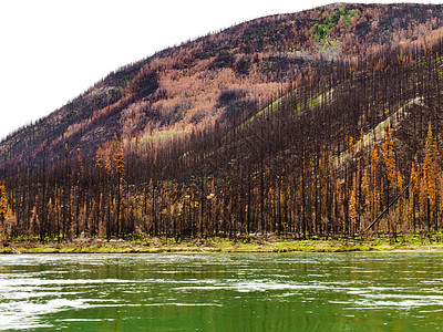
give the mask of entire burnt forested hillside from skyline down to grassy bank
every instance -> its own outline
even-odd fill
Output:
[[[328,6],[111,74],[2,143],[3,237],[439,231],[440,15]]]

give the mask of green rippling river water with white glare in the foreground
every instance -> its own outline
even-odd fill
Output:
[[[443,330],[443,253],[0,256],[0,330]]]

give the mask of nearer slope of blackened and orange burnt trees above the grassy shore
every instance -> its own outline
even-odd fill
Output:
[[[62,162],[43,157],[4,179],[2,235],[178,240],[440,230],[442,49],[437,39],[326,62],[254,115],[202,131],[120,137],[86,157],[81,148],[70,157],[65,145]]]

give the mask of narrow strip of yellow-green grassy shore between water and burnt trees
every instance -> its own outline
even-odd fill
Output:
[[[348,251],[443,251],[443,234],[409,234],[395,238],[310,238],[295,240],[269,236],[238,239],[185,239],[127,237],[126,239],[73,238],[45,242],[16,239],[3,242],[0,253],[155,253],[155,252],[348,252]]]

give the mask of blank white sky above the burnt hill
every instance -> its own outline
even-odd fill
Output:
[[[0,138],[61,107],[111,71],[166,46],[245,20],[331,2],[0,0]]]

